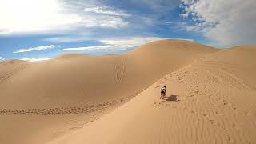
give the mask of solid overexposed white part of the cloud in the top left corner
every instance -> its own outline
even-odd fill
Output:
[[[0,34],[66,30],[82,21],[77,14],[62,11],[58,0],[1,0]]]

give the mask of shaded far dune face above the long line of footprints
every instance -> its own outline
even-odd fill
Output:
[[[0,105],[48,108],[126,98],[194,58],[214,51],[194,42],[165,40],[124,55],[63,55],[13,70],[11,78],[0,83]]]

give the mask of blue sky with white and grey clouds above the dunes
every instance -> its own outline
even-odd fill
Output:
[[[166,38],[254,45],[255,7],[255,0],[0,0],[0,61],[123,54]]]

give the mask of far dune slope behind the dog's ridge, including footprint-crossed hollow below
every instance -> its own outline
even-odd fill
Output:
[[[2,68],[0,139],[46,143],[114,110],[163,75],[215,49],[194,42],[159,41],[123,55],[66,54],[47,62]],[[20,67],[12,61],[10,67]],[[8,73],[6,72],[8,71]]]

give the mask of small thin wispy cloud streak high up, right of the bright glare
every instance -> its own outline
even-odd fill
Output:
[[[96,14],[107,14],[107,15],[115,15],[115,16],[130,16],[130,14],[126,14],[121,10],[111,10],[110,7],[103,6],[95,6],[95,7],[87,7],[83,10],[84,12],[96,13]]]

